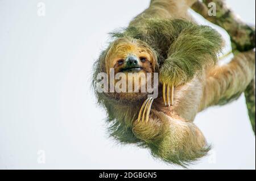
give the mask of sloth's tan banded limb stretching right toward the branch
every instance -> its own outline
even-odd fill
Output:
[[[208,74],[201,110],[239,98],[254,77],[254,50],[239,53],[229,64],[217,66]]]

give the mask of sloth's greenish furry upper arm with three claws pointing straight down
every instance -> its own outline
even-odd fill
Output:
[[[210,27],[193,25],[183,28],[160,65],[159,81],[163,85],[166,105],[174,104],[174,87],[191,81],[216,64],[221,44],[220,35]]]

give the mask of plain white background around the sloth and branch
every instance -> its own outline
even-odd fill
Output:
[[[42,1],[46,16],[38,16],[38,2],[0,0],[0,169],[181,169],[108,138],[90,89],[108,32],[127,26],[149,0]],[[254,0],[228,3],[255,24]],[[189,169],[255,169],[246,111],[242,96],[199,113],[195,123],[213,151]]]

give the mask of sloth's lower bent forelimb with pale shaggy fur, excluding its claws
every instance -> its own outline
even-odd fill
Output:
[[[143,140],[155,157],[185,166],[207,154],[209,146],[203,133],[190,121],[152,110],[150,121],[135,122],[133,132]]]

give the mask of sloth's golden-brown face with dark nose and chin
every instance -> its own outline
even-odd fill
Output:
[[[115,40],[106,53],[105,69],[108,75],[110,75],[110,69],[114,69],[115,75],[124,73],[126,75],[126,90],[125,92],[115,90],[115,93],[110,95],[123,100],[144,99],[147,96],[147,90],[143,89],[147,85],[147,73],[155,73],[156,65],[154,50],[143,41],[127,37]],[[133,78],[129,79],[129,73],[133,73]],[[153,81],[153,76],[149,81]],[[119,80],[115,79],[115,85],[117,82]],[[133,85],[131,88],[133,92],[129,91],[129,85]],[[120,87],[123,88],[123,86]]]

